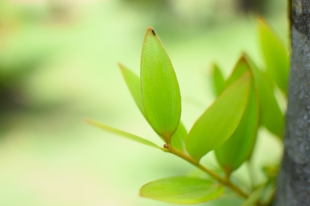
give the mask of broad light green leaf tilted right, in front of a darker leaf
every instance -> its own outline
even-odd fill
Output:
[[[246,72],[228,86],[190,130],[186,149],[197,162],[223,144],[237,128],[245,110],[251,83]]]

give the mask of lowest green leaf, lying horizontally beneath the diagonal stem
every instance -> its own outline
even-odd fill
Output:
[[[179,176],[145,184],[140,196],[175,204],[196,204],[214,200],[224,192],[222,185],[210,180]]]

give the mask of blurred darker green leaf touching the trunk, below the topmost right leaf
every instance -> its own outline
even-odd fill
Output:
[[[249,57],[247,57],[247,60],[252,69],[254,81],[258,90],[259,123],[264,125],[279,138],[282,138],[284,130],[284,115],[275,99],[273,82],[266,74],[262,73],[257,68]]]

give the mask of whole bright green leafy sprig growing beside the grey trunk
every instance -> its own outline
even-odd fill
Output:
[[[142,197],[168,203],[196,204],[220,198],[230,190],[245,199],[242,206],[270,205],[277,165],[264,167],[266,180],[252,183],[251,188],[234,181],[232,174],[242,164],[252,161],[258,127],[266,127],[280,139],[283,135],[284,115],[274,90],[278,87],[286,92],[288,54],[262,21],[258,25],[267,72],[259,70],[246,54],[239,59],[226,81],[218,67],[214,66],[213,82],[218,97],[189,132],[180,122],[181,94],[174,69],[153,28],[147,28],[145,34],[141,77],[119,64],[138,108],[165,142],[163,147],[105,124],[86,121],[171,153],[208,174],[208,178],[176,176],[155,180],[141,188]],[[215,152],[220,171],[211,170],[200,162],[210,151]]]

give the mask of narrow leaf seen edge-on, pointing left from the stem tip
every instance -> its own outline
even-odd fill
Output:
[[[160,149],[160,150],[162,150],[162,151],[164,151],[164,152],[167,152],[167,149],[166,149],[166,148],[159,147],[159,146],[156,145],[155,143],[153,143],[153,142],[151,142],[151,141],[149,141],[149,140],[147,140],[147,139],[144,139],[144,138],[142,138],[142,137],[139,137],[139,136],[137,136],[137,135],[128,133],[128,132],[126,132],[126,131],[122,131],[122,130],[120,130],[120,129],[116,129],[116,128],[111,127],[111,126],[107,126],[107,125],[105,125],[105,124],[101,124],[101,123],[99,123],[99,122],[97,122],[97,121],[94,121],[94,120],[86,119],[85,122],[88,123],[88,124],[92,124],[92,125],[94,125],[94,126],[98,126],[98,127],[102,128],[102,129],[104,129],[105,131],[111,132],[111,133],[113,133],[113,134],[117,134],[117,135],[126,137],[126,138],[128,138],[128,139],[131,139],[131,140],[140,142],[140,143],[142,143],[142,144],[149,145],[149,146],[151,146],[151,147],[155,147],[155,148]]]

